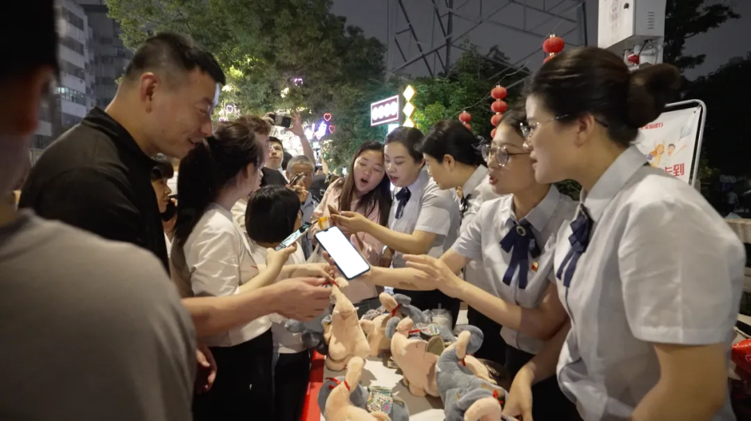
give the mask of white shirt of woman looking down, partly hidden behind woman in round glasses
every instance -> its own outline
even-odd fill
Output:
[[[469,176],[469,179],[464,183],[462,186],[462,194],[464,199],[467,201],[466,210],[464,210],[462,215],[462,223],[459,229],[460,235],[466,231],[466,228],[469,226],[469,222],[475,219],[475,216],[477,216],[478,212],[480,211],[480,206],[485,200],[492,200],[494,198],[500,197],[499,195],[493,193],[492,188],[490,188],[490,184],[487,182],[487,167],[484,165],[481,165],[475,170],[474,173],[472,173],[472,176]],[[498,291],[495,287],[493,287],[493,284],[490,282],[490,279],[487,278],[487,274],[485,273],[485,269],[482,266],[482,257],[480,257],[477,260],[472,260],[469,262],[464,269],[464,280],[475,285],[476,287],[481,288],[487,293],[491,293],[494,296],[498,296]]]

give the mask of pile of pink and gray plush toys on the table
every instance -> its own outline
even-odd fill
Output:
[[[318,393],[318,407],[327,421],[408,421],[409,408],[387,388],[360,385],[367,357],[391,353],[409,393],[440,397],[447,421],[501,421],[506,392],[491,371],[471,354],[482,344],[475,326],[451,329],[444,309],[421,311],[409,296],[382,293],[381,308],[357,320],[357,308],[342,293],[347,282],[331,286],[333,307],[311,322],[289,320],[291,332],[303,332],[307,347],[326,352],[330,377]]]

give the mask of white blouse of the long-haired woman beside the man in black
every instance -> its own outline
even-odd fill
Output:
[[[185,270],[195,296],[228,296],[258,275],[243,230],[228,209],[211,203],[185,240]],[[176,260],[173,260],[173,263]],[[259,317],[237,329],[205,338],[212,347],[231,347],[256,338],[271,327],[269,317]]]

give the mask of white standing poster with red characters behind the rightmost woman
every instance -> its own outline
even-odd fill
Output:
[[[668,104],[639,131],[636,146],[656,168],[696,186],[706,106],[698,100]]]

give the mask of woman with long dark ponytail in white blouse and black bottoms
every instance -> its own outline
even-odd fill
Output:
[[[295,247],[269,249],[255,265],[230,209],[258,188],[266,151],[247,125],[219,125],[180,162],[173,273],[195,296],[228,296],[264,287]],[[285,275],[282,274],[282,277]],[[187,294],[189,294],[187,293]],[[183,293],[185,295],[186,293]],[[216,359],[213,387],[195,396],[196,420],[273,419],[273,344],[268,317],[201,338]]]

